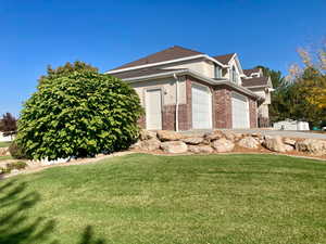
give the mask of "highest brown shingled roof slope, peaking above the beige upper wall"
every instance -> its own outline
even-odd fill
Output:
[[[154,63],[159,63],[159,62],[183,59],[183,57],[188,57],[188,56],[193,56],[193,55],[199,55],[199,54],[203,54],[203,53],[195,51],[195,50],[186,49],[186,48],[183,48],[179,46],[174,46],[174,47],[165,49],[163,51],[145,56],[140,60],[124,64],[124,65],[113,68],[111,70],[117,70],[117,69],[122,69],[122,68],[129,68],[129,67],[135,67],[135,66],[140,66],[140,65],[147,65],[147,64],[154,64]]]

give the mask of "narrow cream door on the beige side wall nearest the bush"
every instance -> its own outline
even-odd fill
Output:
[[[161,89],[146,91],[146,128],[148,130],[162,129]]]

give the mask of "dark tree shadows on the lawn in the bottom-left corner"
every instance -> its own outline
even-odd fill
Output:
[[[43,217],[30,218],[28,214],[40,201],[37,192],[28,192],[26,183],[8,181],[0,183],[0,244],[60,244],[53,239],[54,220]],[[95,240],[92,227],[85,228],[77,244],[104,244]]]

